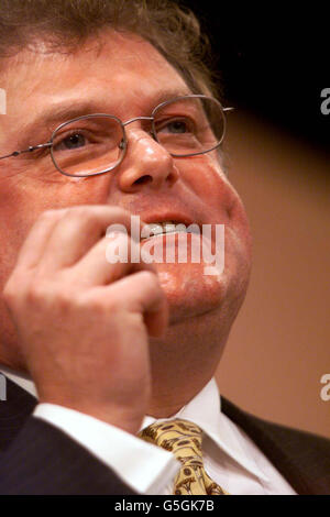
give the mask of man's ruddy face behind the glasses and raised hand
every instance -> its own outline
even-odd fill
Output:
[[[8,96],[8,114],[0,116],[1,155],[47,142],[54,129],[69,118],[102,112],[127,121],[147,117],[163,100],[190,92],[147,42],[112,32],[105,33],[103,41],[103,46],[89,44],[73,55],[24,51],[11,59],[1,82]],[[55,118],[64,105],[75,113]],[[125,158],[102,176],[63,176],[51,156],[40,153],[0,161],[0,287],[41,212],[109,204],[146,222],[224,224],[221,274],[206,275],[202,262],[156,267],[172,322],[187,317],[194,321],[211,311],[220,326],[223,318],[231,322],[248,284],[250,233],[240,198],[221,169],[217,152],[174,158],[145,132],[142,121],[128,125],[127,134]],[[4,308],[1,318],[4,336],[12,334]]]

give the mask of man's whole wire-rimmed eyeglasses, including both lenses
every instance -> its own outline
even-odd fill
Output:
[[[148,125],[148,133],[174,157],[197,156],[220,146],[226,131],[220,102],[202,95],[188,95],[162,102],[151,117],[127,122],[112,114],[94,113],[64,122],[44,144],[14,151],[0,160],[50,148],[56,169],[66,176],[87,177],[109,173],[125,156],[125,127],[138,120]]]

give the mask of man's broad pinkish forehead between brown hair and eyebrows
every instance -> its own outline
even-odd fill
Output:
[[[102,110],[189,92],[184,79],[148,42],[138,35],[105,32],[73,54],[24,50],[1,77],[8,114],[38,112],[63,101],[94,100]],[[162,95],[164,94],[164,96]]]

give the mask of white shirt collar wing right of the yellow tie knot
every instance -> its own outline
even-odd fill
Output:
[[[174,418],[183,418],[197,424],[239,465],[258,479],[267,481],[253,459],[246,453],[243,447],[242,431],[221,411],[221,398],[215,378],[211,378],[201,392],[176,415],[158,421],[173,420]],[[142,428],[155,421],[155,418],[146,416]]]

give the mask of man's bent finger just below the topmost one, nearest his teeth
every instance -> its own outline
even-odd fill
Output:
[[[133,261],[133,262],[132,262]],[[155,273],[153,264],[146,264],[141,256],[141,245],[129,235],[118,232],[113,239],[106,237],[69,270],[75,284],[84,287],[107,285],[123,276],[138,272]]]

